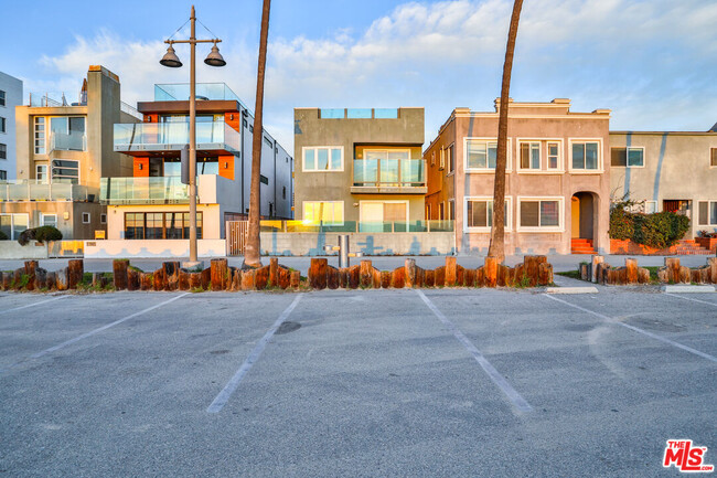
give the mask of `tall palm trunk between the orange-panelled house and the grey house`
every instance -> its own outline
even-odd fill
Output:
[[[259,40],[259,67],[256,74],[256,107],[254,109],[254,144],[252,148],[252,193],[249,195],[249,230],[247,233],[244,264],[249,267],[261,266],[261,244],[259,240],[260,220],[260,174],[261,174],[261,113],[264,108],[264,74],[266,70],[267,39],[269,36],[269,8],[271,0],[264,0],[261,12],[261,34]]]

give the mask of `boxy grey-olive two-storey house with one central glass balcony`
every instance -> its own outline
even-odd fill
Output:
[[[296,216],[354,232],[422,227],[424,108],[295,108]]]

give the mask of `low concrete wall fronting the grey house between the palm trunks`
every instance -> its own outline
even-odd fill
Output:
[[[352,253],[381,255],[449,255],[456,252],[452,232],[349,233]],[[338,233],[261,233],[261,254],[270,256],[325,255],[324,245],[339,245]]]

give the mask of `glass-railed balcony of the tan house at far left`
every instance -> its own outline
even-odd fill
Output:
[[[97,188],[67,182],[45,183],[35,180],[0,182],[0,202],[6,201],[77,201],[95,202]]]

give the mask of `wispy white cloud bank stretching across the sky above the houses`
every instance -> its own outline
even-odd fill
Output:
[[[363,32],[275,39],[267,128],[290,148],[297,106],[426,106],[429,141],[453,107],[492,108],[511,10],[509,0],[409,2]],[[521,19],[512,96],[611,108],[618,128],[707,129],[717,120],[715,24],[717,4],[697,0],[532,0]],[[256,45],[228,39],[221,46],[227,66],[202,65],[199,79],[229,84],[253,107]],[[185,68],[158,64],[164,49],[109,31],[78,36],[63,55],[43,59],[53,79],[29,83],[63,89],[88,64],[103,64],[120,76],[126,100],[151,99],[154,83],[186,81]]]

